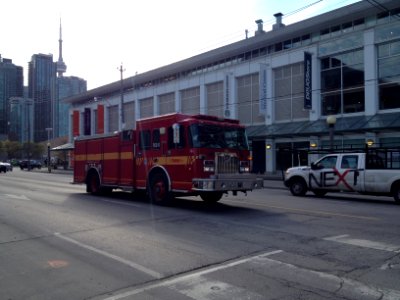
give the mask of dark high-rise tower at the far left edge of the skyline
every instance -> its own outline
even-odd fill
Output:
[[[10,98],[22,97],[23,69],[0,55],[0,140],[15,139],[11,131]]]

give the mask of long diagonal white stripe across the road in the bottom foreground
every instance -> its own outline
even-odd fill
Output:
[[[256,256],[240,259],[240,260],[236,260],[236,261],[233,261],[233,262],[230,262],[230,263],[225,263],[225,264],[220,264],[220,265],[217,265],[217,266],[214,266],[214,267],[205,268],[205,269],[203,269],[201,271],[198,271],[198,272],[185,274],[185,275],[177,276],[177,277],[166,279],[166,280],[161,280],[160,282],[157,282],[157,283],[154,283],[154,284],[150,284],[150,285],[147,285],[147,286],[142,287],[142,288],[128,290],[126,292],[123,292],[123,293],[116,294],[114,296],[105,298],[104,300],[123,299],[123,298],[126,298],[126,297],[130,297],[130,296],[133,296],[133,295],[140,294],[142,292],[145,292],[145,291],[148,291],[148,290],[151,290],[151,289],[154,289],[154,288],[173,286],[173,285],[178,284],[180,282],[184,282],[184,281],[188,281],[188,280],[192,280],[192,279],[198,279],[198,278],[200,278],[200,276],[206,275],[208,273],[216,272],[216,271],[219,271],[219,270],[227,269],[227,268],[230,268],[230,267],[234,267],[236,265],[240,265],[240,264],[249,262],[249,261],[254,260],[254,259],[258,258],[258,257],[266,257],[266,256],[270,256],[270,255],[273,255],[273,254],[281,253],[281,252],[282,252],[282,250],[271,251],[271,252],[263,253],[263,254],[260,254],[260,255],[256,255]]]

